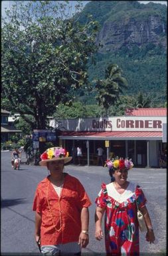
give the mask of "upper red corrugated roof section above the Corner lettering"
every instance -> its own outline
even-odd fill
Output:
[[[167,116],[167,108],[127,108],[126,116]]]

